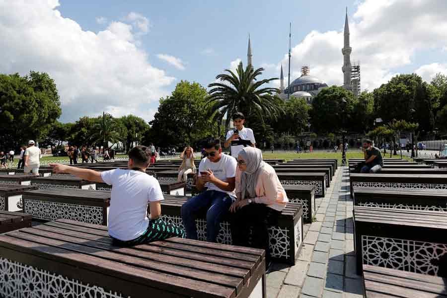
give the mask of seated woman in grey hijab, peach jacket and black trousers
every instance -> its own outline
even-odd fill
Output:
[[[233,244],[265,249],[269,264],[268,225],[276,224],[289,200],[275,170],[262,160],[257,148],[245,147],[239,152],[236,196],[230,207]]]

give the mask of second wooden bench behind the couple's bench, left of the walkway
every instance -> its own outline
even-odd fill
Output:
[[[326,194],[326,179],[324,173],[276,173],[283,186],[313,185],[315,196],[324,197]]]

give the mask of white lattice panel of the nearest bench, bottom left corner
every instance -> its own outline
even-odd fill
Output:
[[[124,298],[116,292],[0,258],[0,296],[7,298]]]

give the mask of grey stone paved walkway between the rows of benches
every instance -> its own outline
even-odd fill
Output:
[[[326,196],[317,199],[316,221],[304,226],[297,264],[275,264],[267,275],[268,298],[363,298],[349,193],[348,168],[339,167]]]

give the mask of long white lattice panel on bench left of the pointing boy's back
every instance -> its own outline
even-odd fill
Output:
[[[40,220],[65,219],[89,224],[102,224],[102,208],[98,206],[26,200],[24,212]]]

